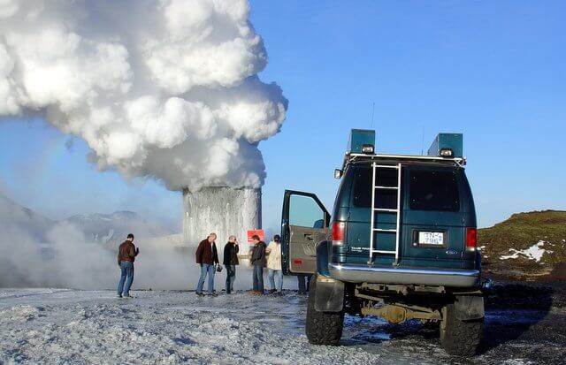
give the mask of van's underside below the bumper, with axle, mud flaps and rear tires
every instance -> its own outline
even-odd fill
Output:
[[[307,337],[317,345],[337,345],[344,315],[379,316],[389,323],[419,320],[438,327],[448,354],[477,351],[484,322],[483,293],[477,287],[344,283],[317,274],[307,308]],[[323,329],[332,329],[325,331]]]

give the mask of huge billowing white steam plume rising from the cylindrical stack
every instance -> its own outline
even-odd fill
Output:
[[[264,182],[287,99],[247,0],[0,0],[0,116],[44,112],[100,169],[170,189]]]

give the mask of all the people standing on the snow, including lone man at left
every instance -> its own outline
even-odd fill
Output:
[[[264,268],[267,268],[271,290],[268,293],[282,295],[283,293],[283,270],[281,266],[281,238],[279,234],[273,236],[273,240],[266,245],[259,236],[252,236],[253,247],[250,252],[250,263],[253,267],[253,287],[250,293],[264,295]],[[236,236],[230,236],[224,246],[222,265],[219,261],[218,249],[216,247],[217,234],[210,233],[202,240],[196,249],[196,263],[200,266],[201,275],[196,285],[196,295],[203,296],[204,281],[208,277],[208,293],[216,295],[214,290],[214,276],[216,272],[222,271],[222,265],[226,268],[226,293],[233,293],[233,283],[236,278],[236,266],[240,264],[238,253],[240,247]],[[130,288],[134,282],[134,261],[140,254],[140,249],[134,246],[134,234],[127,235],[118,250],[118,265],[120,268],[120,279],[118,284],[118,297],[131,298]],[[310,277],[298,276],[299,293],[309,290]]]

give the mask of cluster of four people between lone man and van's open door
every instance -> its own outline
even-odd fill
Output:
[[[222,271],[218,260],[218,249],[216,247],[217,235],[210,233],[209,236],[199,243],[196,249],[196,263],[201,267],[201,276],[196,285],[196,295],[203,296],[204,281],[208,276],[208,293],[216,295],[214,291],[215,271]],[[253,267],[253,288],[250,293],[255,295],[264,294],[264,268],[267,267],[268,277],[271,284],[269,293],[281,295],[283,293],[283,270],[281,268],[281,238],[278,234],[273,237],[269,245],[265,245],[259,236],[251,238],[253,247],[250,253],[250,263]],[[236,265],[240,247],[235,236],[230,236],[224,247],[222,264],[226,267],[226,293],[233,292],[233,282],[236,278]]]

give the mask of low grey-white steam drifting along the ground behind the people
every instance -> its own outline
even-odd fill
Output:
[[[176,247],[168,237],[144,237],[139,224],[132,226],[132,232],[141,251],[135,260],[134,289],[195,289],[200,273],[196,247]],[[0,180],[0,288],[115,288],[121,240],[101,244],[89,240],[77,224],[50,221],[24,209],[4,197]],[[223,240],[217,246],[221,253]],[[235,288],[249,289],[248,268],[240,265],[237,270]],[[225,278],[225,272],[216,275],[218,291]]]

